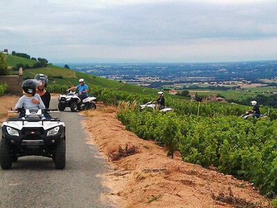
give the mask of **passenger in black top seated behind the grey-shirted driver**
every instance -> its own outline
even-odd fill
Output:
[[[48,84],[48,78],[43,73],[39,73],[35,76],[35,80],[37,80],[37,94],[42,98],[45,107],[49,108],[51,95],[45,89]]]

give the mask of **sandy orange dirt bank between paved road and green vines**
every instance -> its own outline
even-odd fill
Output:
[[[183,162],[178,153],[167,157],[165,148],[125,130],[117,112],[98,105],[82,114],[88,144],[98,146],[114,169],[105,185],[121,207],[269,207],[249,182]]]

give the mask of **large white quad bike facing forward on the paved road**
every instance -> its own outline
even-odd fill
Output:
[[[55,168],[63,169],[66,165],[65,125],[60,119],[46,119],[44,112],[57,110],[25,110],[23,118],[9,118],[1,125],[0,165],[10,169],[18,157],[38,155],[51,157]]]

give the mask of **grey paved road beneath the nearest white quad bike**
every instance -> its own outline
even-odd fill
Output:
[[[57,108],[57,98],[51,107]],[[66,123],[66,168],[57,171],[46,157],[19,157],[11,170],[0,170],[0,207],[113,207],[98,176],[110,170],[109,164],[86,144],[84,117],[73,112],[53,116]]]

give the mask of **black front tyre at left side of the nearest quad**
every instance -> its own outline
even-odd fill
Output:
[[[4,170],[12,167],[12,157],[10,157],[10,147],[8,146],[6,139],[1,139],[0,146],[0,165]]]

